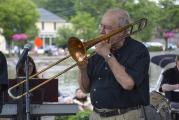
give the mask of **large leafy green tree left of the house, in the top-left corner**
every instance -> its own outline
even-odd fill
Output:
[[[0,4],[0,27],[3,28],[9,45],[13,34],[28,34],[29,31],[36,30],[37,19],[38,12],[31,0],[4,0]]]

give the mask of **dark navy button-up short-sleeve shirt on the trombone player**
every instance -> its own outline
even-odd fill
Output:
[[[104,58],[96,54],[89,59],[90,97],[97,108],[128,108],[149,104],[149,63],[147,48],[140,42],[126,38],[122,48],[113,55],[133,78],[133,90],[125,90],[115,79]]]

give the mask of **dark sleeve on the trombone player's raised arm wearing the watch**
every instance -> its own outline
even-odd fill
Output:
[[[126,72],[133,78],[136,87],[140,86],[144,80],[149,79],[149,63],[150,56],[145,50],[129,57],[125,68]]]

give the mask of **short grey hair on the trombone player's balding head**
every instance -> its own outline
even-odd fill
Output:
[[[105,14],[114,14],[119,20],[119,26],[123,26],[131,23],[129,13],[126,10],[120,8],[109,9]]]

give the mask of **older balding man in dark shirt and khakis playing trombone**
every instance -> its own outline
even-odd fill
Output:
[[[128,12],[110,9],[102,17],[102,35],[130,23]],[[80,88],[90,92],[90,120],[143,120],[149,104],[149,52],[140,42],[119,32],[96,44],[96,54],[78,64]]]

